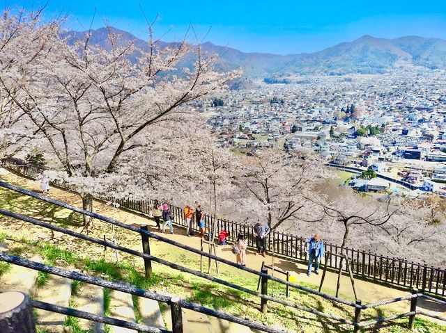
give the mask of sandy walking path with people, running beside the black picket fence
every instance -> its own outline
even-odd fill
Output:
[[[22,177],[18,177],[15,174],[11,174],[10,172],[7,172],[6,170],[0,170],[0,177],[2,179],[5,179],[6,181],[10,181],[13,184],[17,184],[20,186],[24,186],[26,188],[30,189],[36,189],[37,184],[34,181],[29,181],[27,179],[24,179]],[[76,205],[76,206],[82,206],[80,198],[78,195],[75,195],[74,193],[69,193],[64,190],[59,190],[57,188],[51,188],[50,190],[51,197],[63,200],[65,202],[68,202],[70,204]],[[125,222],[132,225],[141,225],[141,224],[148,224],[151,227],[151,231],[155,231],[155,222],[149,218],[144,218],[143,216],[135,215],[133,213],[130,213],[128,211],[123,211],[121,209],[115,209],[112,206],[107,206],[106,204],[103,204],[102,202],[94,202],[93,209],[96,213],[101,213],[102,215],[109,216],[110,218],[114,218],[116,220],[119,220],[121,222]],[[195,247],[197,249],[200,248],[200,238],[198,237],[187,237],[185,234],[185,230],[181,229],[179,227],[176,227],[175,234],[166,234],[168,238],[173,239],[174,241],[177,241],[179,243],[187,244],[192,247]],[[138,245],[140,247],[140,245]],[[139,249],[140,250],[140,249]],[[231,245],[225,245],[225,246],[217,246],[216,247],[216,254],[219,257],[222,257],[224,259],[229,259],[235,261],[235,256],[231,252]],[[255,270],[260,270],[262,261],[265,261],[268,265],[272,264],[272,257],[270,255],[267,255],[266,258],[263,258],[259,255],[254,255],[254,252],[248,251],[247,252],[247,266],[249,268],[253,268]],[[312,274],[310,277],[307,277],[306,274],[306,266],[301,263],[295,263],[291,260],[286,260],[282,258],[276,258],[275,259],[275,266],[282,268],[282,270],[289,270],[290,272],[295,275],[297,279],[297,283],[299,282],[305,282],[307,284],[313,284],[318,285],[321,282],[321,276],[320,275],[314,275]],[[206,267],[206,263],[205,263]],[[213,270],[215,269],[215,266]],[[277,275],[280,276],[280,275]],[[325,282],[324,282],[324,288],[328,289],[330,291],[336,290],[336,284],[337,284],[337,274],[327,272],[327,275],[325,276]],[[355,280],[355,287],[357,291],[358,298],[362,300],[363,304],[371,303],[371,302],[378,302],[380,300],[387,300],[390,298],[397,298],[403,295],[407,295],[407,291],[400,291],[398,289],[383,286],[380,284],[374,284],[371,282],[362,281],[359,279]],[[354,299],[353,289],[351,287],[351,282],[349,277],[342,276],[341,277],[341,290],[342,295],[347,296],[348,298]],[[436,314],[437,316],[445,316],[446,317],[446,306],[438,304],[436,302],[430,302],[430,301],[423,301],[419,302],[420,307],[424,308],[426,311],[431,312],[432,314]],[[392,309],[394,311],[398,312],[406,312],[409,310],[410,304],[408,301],[403,302],[397,302],[390,304],[386,306],[388,309]],[[436,320],[437,321],[437,320]],[[437,321],[438,323],[441,323],[445,325],[445,322]]]

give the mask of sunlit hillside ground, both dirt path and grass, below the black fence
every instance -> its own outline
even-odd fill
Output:
[[[1,178],[13,181],[15,184],[20,184],[20,186],[25,186],[26,188],[33,188],[35,185],[32,181],[27,181],[26,179],[22,179],[13,174],[3,173]],[[63,190],[52,188],[51,196],[70,202],[71,204],[79,205],[79,197],[74,193],[68,193]],[[0,198],[3,200],[1,206],[4,209],[10,209],[17,213],[25,213],[29,216],[52,221],[56,225],[76,231],[79,231],[79,228],[82,225],[82,216],[78,213],[72,213],[67,209],[61,209],[60,207],[40,202],[31,197],[25,197],[18,193],[11,193],[8,190],[0,189]],[[153,221],[148,220],[143,216],[114,209],[112,206],[107,206],[104,203],[95,202],[95,211],[132,225],[148,222],[149,225],[153,227]],[[107,238],[112,238],[113,235],[113,238],[115,238],[120,245],[132,247],[134,250],[141,250],[141,239],[138,234],[128,233],[121,228],[113,229],[110,225],[95,221],[90,236],[102,238],[104,235],[107,236]],[[198,238],[187,238],[181,229],[177,229],[176,234],[171,237],[174,237],[181,243],[186,243],[194,247],[199,246]],[[75,268],[89,274],[99,275],[109,279],[128,281],[135,286],[157,291],[158,293],[181,295],[183,298],[192,302],[198,302],[214,309],[221,309],[236,316],[243,314],[244,317],[246,316],[251,320],[267,323],[268,325],[286,327],[291,332],[348,332],[348,329],[344,325],[338,325],[326,318],[318,318],[302,311],[287,309],[272,302],[268,303],[268,314],[261,314],[259,312],[258,298],[234,291],[233,289],[228,289],[218,284],[210,283],[207,280],[186,273],[179,273],[177,270],[172,270],[165,266],[156,265],[154,267],[156,273],[155,277],[148,281],[141,275],[141,272],[143,271],[141,259],[135,259],[128,254],[121,253],[119,265],[114,266],[112,263],[109,263],[109,261],[114,259],[115,254],[110,250],[107,250],[107,254],[105,254],[100,245],[88,243],[88,246],[86,246],[87,243],[77,238],[72,238],[59,233],[53,234],[48,229],[33,227],[32,225],[17,222],[17,220],[11,218],[2,218],[0,224],[0,243],[3,241],[9,242],[8,246],[11,249],[11,254],[17,254],[22,257],[33,257],[37,254],[42,257],[45,262],[50,264],[55,263],[57,266],[74,265]],[[197,254],[178,250],[177,248],[160,241],[151,241],[151,254],[155,255],[155,257],[160,257],[187,266],[188,268],[199,269],[199,256]],[[217,255],[225,257],[226,259],[233,259],[229,245],[226,247],[218,247]],[[108,262],[106,263],[104,259]],[[263,259],[263,257],[261,258],[249,254],[248,266],[258,269],[263,260],[268,262],[270,257],[268,256],[266,259]],[[318,284],[320,276],[307,277],[304,266],[297,266],[291,261],[282,259],[277,259],[276,264],[281,268],[297,273],[299,284],[309,286],[312,289],[317,289],[316,284]],[[203,265],[206,270],[206,260]],[[214,274],[215,270],[213,270],[213,275]],[[328,273],[328,279],[330,279],[330,275],[334,274]],[[228,282],[243,285],[252,290],[256,289],[256,277],[249,273],[237,270],[236,268],[220,264],[219,276]],[[38,282],[38,284],[40,284],[40,289],[42,289],[42,286],[45,287],[47,279],[48,277],[45,275],[40,276],[40,282]],[[334,284],[328,283],[325,285],[326,287],[323,291],[332,295]],[[362,282],[360,280],[357,281],[357,288],[362,299],[367,300],[367,302],[383,300],[405,294],[403,291],[371,284],[369,282]],[[345,277],[342,282],[341,298],[352,300],[351,290],[349,289],[348,277]],[[283,295],[284,290],[275,284],[274,293],[275,295]],[[347,318],[353,316],[351,308],[339,306],[339,304],[334,305],[332,302],[316,298],[314,295],[309,295],[302,291],[292,290],[291,300],[296,304],[319,309],[328,314],[344,316]],[[394,305],[396,307],[380,307],[379,309],[364,311],[364,320],[367,318],[374,318],[374,316],[377,315],[387,316],[394,312],[401,313],[402,311],[407,311],[409,306],[407,301],[395,303]],[[427,309],[431,309],[431,306]],[[105,310],[107,310],[107,308]],[[165,309],[162,308],[162,310]],[[105,312],[107,313],[107,311]],[[164,316],[164,320],[167,318],[168,316]],[[408,332],[405,327],[406,319],[401,319],[397,321],[397,326],[387,327],[387,325],[383,325],[383,327],[380,327],[379,332]],[[417,332],[445,332],[444,327],[439,327],[438,325],[422,319],[417,320],[417,328],[419,329]],[[366,332],[376,331],[371,328],[370,330],[366,330]]]

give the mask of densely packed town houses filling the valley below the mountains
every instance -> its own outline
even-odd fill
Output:
[[[224,106],[212,107],[208,101],[195,106],[211,113],[208,127],[220,145],[247,153],[265,147],[306,147],[327,161],[371,168],[443,193],[445,87],[446,76],[440,71],[323,76],[232,90],[221,96]],[[355,187],[383,190],[385,183],[357,180]]]

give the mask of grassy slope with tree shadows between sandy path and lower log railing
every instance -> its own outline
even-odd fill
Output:
[[[11,193],[3,189],[0,189],[0,206],[20,213],[26,213],[29,216],[45,218],[45,220],[51,220],[57,225],[63,225],[70,229],[79,230],[82,221],[80,216],[75,213],[43,202],[36,202],[36,200],[22,197],[17,193]],[[95,222],[95,230],[92,236],[101,238],[101,233],[103,234],[107,227],[109,226]],[[30,232],[31,228],[33,230],[32,233]],[[330,320],[318,318],[307,312],[289,309],[272,302],[268,302],[268,314],[261,314],[259,312],[259,298],[214,284],[199,277],[180,273],[178,270],[172,270],[165,266],[155,264],[155,274],[151,279],[145,279],[142,275],[141,259],[121,255],[121,262],[118,265],[114,265],[105,262],[103,259],[98,260],[98,257],[100,258],[103,255],[103,250],[100,246],[89,244],[86,247],[82,241],[73,240],[68,238],[68,236],[61,236],[60,234],[53,235],[47,229],[40,227],[31,225],[26,225],[25,227],[22,222],[6,217],[1,218],[0,232],[7,233],[9,238],[15,239],[12,242],[14,244],[13,253],[26,257],[32,257],[33,254],[39,253],[43,256],[45,262],[49,264],[58,266],[75,265],[89,274],[100,275],[107,279],[129,281],[140,288],[160,293],[181,295],[192,302],[199,302],[208,307],[220,309],[236,316],[247,317],[268,325],[281,325],[295,332],[349,332],[348,327],[344,325],[337,325]],[[0,236],[0,241],[5,236],[5,234]],[[116,232],[116,238],[120,240],[121,245],[133,245],[132,247],[139,249],[140,239],[137,235],[129,236],[125,232],[122,234]],[[196,254],[177,250],[171,245],[157,241],[151,242],[151,250],[153,255],[157,257],[180,263],[189,268],[199,269],[199,256]],[[206,262],[204,264],[205,269]],[[224,265],[220,265],[219,277],[252,290],[255,290],[257,286],[255,276]],[[43,280],[45,280],[45,277],[43,277]],[[316,286],[310,287],[316,289]],[[330,292],[332,293],[332,291]],[[274,294],[284,294],[284,289],[276,284]],[[350,308],[334,305],[307,293],[291,291],[290,300],[302,306],[324,311],[325,313],[344,318],[353,318],[353,311]],[[364,311],[363,320],[367,320],[370,316],[387,316],[389,314],[390,312],[385,309]],[[382,327],[380,332],[409,332],[405,328],[406,325],[407,319],[397,320],[396,325]],[[415,332],[446,332],[446,327],[439,327],[424,320],[417,320],[416,327],[417,330]],[[376,328],[364,332],[376,332]]]

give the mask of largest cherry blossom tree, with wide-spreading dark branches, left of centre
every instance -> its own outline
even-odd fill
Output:
[[[40,149],[54,161],[52,168],[77,187],[84,209],[92,209],[92,194],[104,188],[102,181],[128,170],[122,165],[131,160],[126,156],[150,145],[145,133],[154,124],[240,74],[215,72],[216,58],[204,58],[187,42],[162,49],[151,26],[149,32],[148,50],[122,42],[112,31],[107,47],[92,44],[90,33],[74,45],[59,33],[47,34],[45,56],[21,64],[23,72],[15,67],[3,72],[0,80],[42,136]],[[196,55],[192,70],[178,68],[190,54]]]

